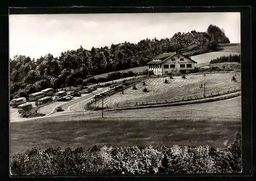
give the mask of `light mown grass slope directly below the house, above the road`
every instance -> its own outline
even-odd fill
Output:
[[[103,107],[115,108],[123,106],[134,106],[137,104],[144,104],[153,102],[156,103],[162,101],[169,101],[180,99],[188,96],[203,96],[203,88],[200,88],[200,84],[205,83],[206,95],[210,92],[218,93],[223,89],[228,89],[234,86],[241,85],[240,72],[237,72],[237,82],[232,82],[231,77],[234,72],[229,73],[212,73],[197,74],[197,75],[186,75],[186,79],[182,79],[182,76],[174,76],[174,79],[169,77],[158,77],[151,78],[145,81],[146,86],[142,83],[136,84],[137,90],[133,90],[133,87],[124,90],[124,94],[116,93],[109,97],[104,98]],[[167,79],[168,84],[164,83]],[[142,90],[146,87],[149,92],[143,92]],[[97,102],[98,107],[102,107],[101,101]]]

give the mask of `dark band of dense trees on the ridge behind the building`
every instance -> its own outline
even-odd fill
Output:
[[[59,57],[47,54],[39,59],[19,55],[10,59],[10,98],[34,93],[48,87],[60,88],[80,84],[88,76],[144,66],[156,55],[180,51],[188,56],[217,50],[219,43],[229,43],[224,30],[210,24],[206,32],[175,33],[171,38],[143,39],[110,47],[80,46],[62,52]],[[192,50],[184,48],[193,45]]]

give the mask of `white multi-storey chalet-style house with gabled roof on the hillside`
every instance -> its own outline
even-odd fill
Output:
[[[197,62],[179,53],[163,53],[148,62],[155,75],[186,74],[195,70]]]

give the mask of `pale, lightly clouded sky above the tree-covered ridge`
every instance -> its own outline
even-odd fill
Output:
[[[146,38],[171,38],[177,32],[224,29],[230,43],[240,43],[240,13],[38,14],[9,16],[10,58],[31,59],[82,46],[138,43]]]

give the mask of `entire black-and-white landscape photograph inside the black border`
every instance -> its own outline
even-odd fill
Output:
[[[242,172],[240,12],[10,14],[10,175]]]

